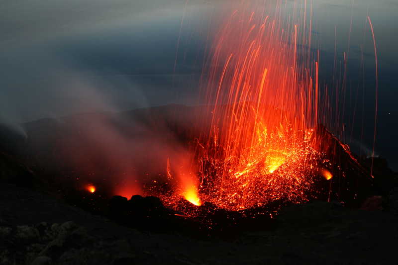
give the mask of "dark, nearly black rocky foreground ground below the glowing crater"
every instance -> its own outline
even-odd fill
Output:
[[[397,192],[388,199],[388,211],[291,206],[276,229],[199,240],[120,226],[1,183],[0,264],[398,264]]]

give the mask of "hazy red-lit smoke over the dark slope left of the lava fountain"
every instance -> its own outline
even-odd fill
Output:
[[[191,169],[184,139],[197,128],[191,124],[193,109],[184,114],[185,109],[175,105],[25,123],[27,155],[61,186],[94,184],[126,197],[145,194],[143,187],[156,181],[179,189]],[[168,164],[181,174],[167,179]]]

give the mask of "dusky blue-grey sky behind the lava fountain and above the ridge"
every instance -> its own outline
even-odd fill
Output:
[[[76,112],[197,103],[203,51],[209,44],[206,38],[230,2],[1,1],[0,121],[18,123]],[[330,80],[335,40],[341,60],[351,36],[347,84],[356,91],[362,78],[360,45],[364,48],[364,149],[371,149],[375,108],[375,56],[367,14],[371,17],[379,57],[376,151],[397,170],[398,2],[354,0],[353,8],[351,0],[313,2],[313,45],[320,49],[320,75],[325,82]],[[347,105],[348,112],[353,102]],[[359,142],[356,136],[361,129],[357,127],[354,125],[352,145]]]

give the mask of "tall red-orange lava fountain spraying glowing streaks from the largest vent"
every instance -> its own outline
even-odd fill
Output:
[[[194,204],[200,198],[242,210],[277,199],[305,201],[319,164],[327,162],[315,136],[311,22],[305,24],[305,11],[286,17],[282,3],[265,2],[256,11],[243,3],[216,34],[203,73],[211,124],[195,147],[200,184],[183,192]]]

